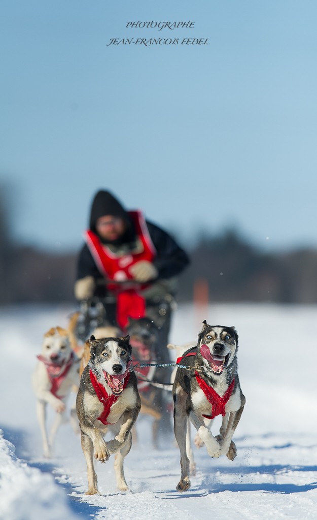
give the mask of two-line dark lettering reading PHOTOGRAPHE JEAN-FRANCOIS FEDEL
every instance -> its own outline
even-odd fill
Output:
[[[152,29],[152,31],[161,32],[165,29],[164,37],[163,34],[155,35],[155,37],[147,36],[144,37],[123,37],[123,38],[110,38],[109,43],[107,43],[107,47],[109,45],[144,45],[146,47],[150,47],[151,45],[208,45],[208,38],[194,37],[190,34],[182,34],[179,37],[179,32],[176,34],[172,31],[181,30],[181,29],[194,29],[195,22],[127,22],[126,29],[143,29],[147,31],[148,29]],[[169,34],[168,34],[168,32]],[[183,32],[183,31],[182,31]],[[175,35],[175,36],[174,36]],[[166,37],[167,36],[167,37]]]

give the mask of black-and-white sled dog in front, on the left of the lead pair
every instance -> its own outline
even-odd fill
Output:
[[[99,493],[94,457],[105,462],[114,453],[117,487],[126,491],[123,463],[131,448],[131,429],[141,408],[137,378],[129,371],[132,348],[128,335],[101,340],[92,335],[89,341],[91,357],[77,394],[77,415],[88,474],[86,495]],[[106,431],[114,435],[107,442],[103,439]]]

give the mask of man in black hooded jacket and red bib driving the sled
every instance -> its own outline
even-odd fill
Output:
[[[166,345],[177,275],[189,264],[186,252],[140,211],[125,210],[104,190],[96,193],[91,205],[85,241],[77,262],[76,299],[104,298],[107,321],[123,331],[128,316],[151,318],[159,331],[157,361],[169,362]],[[170,371],[159,373],[166,383]]]

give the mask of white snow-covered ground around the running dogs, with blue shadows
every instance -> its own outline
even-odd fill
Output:
[[[317,306],[213,305],[180,307],[171,341],[195,340],[201,321],[234,325],[246,406],[235,433],[238,456],[210,459],[195,448],[197,475],[188,492],[173,438],[153,450],[151,424],[139,416],[139,443],[125,461],[131,491],[117,493],[112,461],[96,464],[102,496],[87,497],[86,467],[69,424],[56,457],[42,458],[31,373],[43,333],[65,326],[68,307],[13,307],[0,318],[2,390],[0,518],[5,520],[118,520],[174,518],[238,520],[317,518]],[[215,428],[213,428],[215,433]]]

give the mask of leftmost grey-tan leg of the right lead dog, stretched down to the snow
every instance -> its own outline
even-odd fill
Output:
[[[187,394],[179,390],[174,395],[174,433],[180,451],[180,481],[176,486],[177,491],[186,491],[190,488],[189,479],[189,458],[186,452],[186,435],[187,435],[187,414],[186,414]]]

